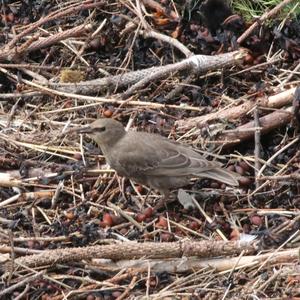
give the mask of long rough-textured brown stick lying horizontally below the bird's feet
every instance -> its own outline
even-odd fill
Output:
[[[242,241],[201,241],[172,243],[135,243],[124,242],[117,245],[98,245],[85,248],[47,250],[41,254],[19,257],[15,264],[27,267],[39,267],[57,263],[76,262],[82,259],[104,258],[112,260],[137,258],[174,258],[174,257],[212,257],[219,255],[235,255],[245,251],[250,254],[256,251],[254,243]],[[11,264],[3,265],[7,272]]]

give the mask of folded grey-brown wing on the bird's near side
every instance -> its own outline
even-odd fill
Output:
[[[125,176],[190,176],[221,166],[208,161],[191,148],[168,139],[138,133],[123,141],[122,153],[114,155],[113,168]]]

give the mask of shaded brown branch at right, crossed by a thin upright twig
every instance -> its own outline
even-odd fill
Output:
[[[289,107],[285,110],[275,111],[259,119],[260,132],[265,134],[275,128],[281,127],[293,119],[293,108]],[[255,134],[255,122],[251,121],[233,130],[225,130],[221,133],[217,141],[224,146],[232,146],[239,144],[242,141],[248,140],[254,137]]]

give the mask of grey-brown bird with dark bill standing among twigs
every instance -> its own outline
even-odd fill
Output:
[[[236,173],[224,169],[220,162],[207,160],[192,147],[158,134],[126,131],[115,119],[100,118],[77,131],[98,144],[119,176],[158,190],[164,196],[162,203],[172,190],[188,185],[192,178],[239,185]]]

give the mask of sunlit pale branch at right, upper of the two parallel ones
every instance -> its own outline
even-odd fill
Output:
[[[188,130],[193,127],[203,127],[204,125],[206,126],[208,122],[218,119],[229,121],[239,119],[241,116],[252,110],[256,105],[258,105],[259,107],[280,108],[284,105],[292,103],[295,91],[296,88],[291,88],[273,96],[258,98],[256,101],[248,100],[247,102],[238,106],[213,112],[208,115],[189,118],[186,120],[178,120],[176,122],[176,125],[178,126],[178,129]]]

